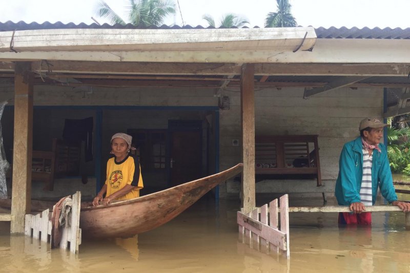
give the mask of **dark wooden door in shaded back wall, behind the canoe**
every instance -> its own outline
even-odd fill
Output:
[[[201,143],[200,131],[171,132],[171,186],[201,177]]]

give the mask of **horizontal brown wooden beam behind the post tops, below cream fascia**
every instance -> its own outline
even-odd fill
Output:
[[[224,64],[182,62],[111,62],[111,61],[43,61],[34,62],[34,71],[94,74],[154,75],[240,75],[235,62]],[[0,72],[14,72],[12,62],[0,61]],[[407,76],[410,64],[255,64],[255,75],[303,76]]]

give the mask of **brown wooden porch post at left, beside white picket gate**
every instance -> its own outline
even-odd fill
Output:
[[[24,234],[24,217],[30,212],[31,199],[33,74],[31,62],[15,62],[14,67],[14,146],[10,233]]]

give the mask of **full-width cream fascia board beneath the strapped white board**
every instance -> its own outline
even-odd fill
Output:
[[[213,29],[215,31],[215,29]],[[217,29],[219,30],[219,29]],[[229,29],[242,30],[242,29]],[[265,29],[245,29],[256,32]],[[256,33],[255,32],[255,33]],[[305,32],[306,33],[306,32]],[[2,34],[0,32],[0,34]],[[303,39],[300,39],[300,42]],[[238,41],[238,39],[237,39]],[[285,43],[286,39],[277,39],[273,44]],[[247,41],[244,41],[247,42]],[[254,40],[255,43],[257,43]],[[275,42],[275,43],[274,43]],[[46,43],[46,41],[44,41]],[[303,45],[306,45],[304,40]],[[188,44],[188,43],[187,43]],[[410,39],[316,39],[312,51],[303,51],[303,46],[297,52],[279,50],[260,50],[265,48],[255,46],[254,50],[237,50],[238,47],[230,49],[210,48],[206,51],[195,51],[194,47],[200,43],[192,43],[190,50],[169,51],[64,51],[61,47],[55,50],[36,50],[26,52],[1,52],[0,61],[18,60],[75,60],[75,61],[140,61],[140,62],[253,62],[253,63],[318,63],[318,64],[410,64]],[[223,45],[233,45],[223,42]],[[287,44],[288,46],[290,44]],[[295,46],[296,44],[292,44]],[[162,45],[163,46],[163,45]],[[174,46],[187,47],[186,44],[175,44]],[[215,45],[213,45],[215,46]],[[243,49],[248,49],[242,44]],[[58,49],[58,50],[57,50]],[[232,50],[235,49],[235,50]],[[10,49],[8,49],[10,50]]]

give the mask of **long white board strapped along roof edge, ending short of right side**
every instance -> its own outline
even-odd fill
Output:
[[[300,51],[315,45],[307,28],[51,29],[0,32],[0,52]]]

